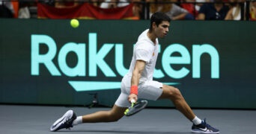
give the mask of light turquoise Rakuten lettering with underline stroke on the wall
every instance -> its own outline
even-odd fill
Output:
[[[46,45],[49,48],[46,54],[40,54],[40,45]],[[88,54],[86,54],[87,48]],[[40,64],[43,64],[52,76],[61,76],[62,72],[68,77],[97,77],[97,68],[99,68],[106,77],[118,77],[113,68],[110,68],[109,63],[104,60],[112,49],[115,49],[115,70],[119,75],[124,76],[129,68],[124,67],[124,45],[121,43],[104,43],[97,50],[97,33],[89,33],[88,47],[85,43],[67,42],[59,49],[60,51],[57,51],[56,42],[51,36],[33,34],[31,35],[31,75],[40,75]],[[70,68],[66,62],[67,54],[70,52],[75,53],[78,59],[76,66],[73,68]],[[158,59],[161,60],[162,68],[155,69],[153,75],[155,78],[171,77],[180,79],[186,77],[190,72],[188,68],[183,66],[175,70],[172,65],[188,64],[192,64],[192,77],[200,78],[202,54],[210,55],[211,78],[219,78],[219,53],[213,45],[192,45],[192,57],[190,57],[188,49],[180,44],[168,45],[165,50],[161,50],[160,47],[159,53],[161,52],[162,57],[158,57]],[[179,53],[180,56],[171,56],[174,53]],[[52,62],[56,57],[58,57],[59,68]],[[85,61],[86,57],[88,57],[88,61]],[[88,63],[88,66],[86,63]],[[86,72],[86,68],[88,68],[88,72]],[[165,76],[165,74],[168,76]],[[106,87],[107,89],[120,88],[120,82],[69,81],[69,83],[76,91],[106,89]],[[86,84],[90,84],[90,89],[85,88]],[[95,87],[92,85],[95,85]]]

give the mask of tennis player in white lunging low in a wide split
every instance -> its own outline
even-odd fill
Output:
[[[118,121],[124,116],[124,112],[132,99],[143,98],[147,100],[171,100],[174,106],[189,121],[192,121],[192,133],[219,133],[219,130],[211,127],[205,120],[202,121],[192,112],[179,89],[153,80],[153,70],[159,51],[158,38],[164,38],[168,34],[170,22],[171,19],[165,13],[153,13],[150,19],[150,28],[138,36],[129,72],[121,82],[121,95],[112,109],[78,117],[73,110],[69,110],[52,124],[50,130],[57,131],[82,123]]]

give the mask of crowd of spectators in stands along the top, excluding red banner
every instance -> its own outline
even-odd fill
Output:
[[[256,20],[256,0],[48,0],[44,4],[70,8],[84,2],[104,9],[125,7],[132,3],[133,14],[139,19],[149,19],[152,13],[161,11],[172,20]],[[0,1],[0,17],[33,18],[31,7],[36,10],[37,3]]]

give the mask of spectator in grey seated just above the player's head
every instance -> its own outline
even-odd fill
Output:
[[[194,19],[194,17],[182,7],[177,6],[174,2],[177,0],[151,0],[157,2],[150,4],[150,16],[156,12],[166,13],[171,20]]]

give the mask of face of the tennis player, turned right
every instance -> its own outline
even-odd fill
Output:
[[[156,27],[156,36],[159,38],[164,38],[165,36],[167,36],[169,27],[170,22],[168,21],[163,21],[162,23],[160,23],[158,27]]]

